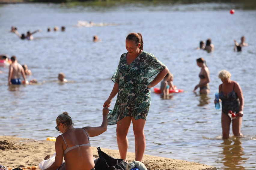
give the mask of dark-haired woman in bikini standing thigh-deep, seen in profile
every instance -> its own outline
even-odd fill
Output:
[[[200,94],[209,94],[210,72],[209,68],[206,66],[206,61],[203,58],[198,58],[197,66],[201,67],[201,71],[199,73],[200,82],[195,86],[194,92],[196,92],[197,88],[200,87]]]

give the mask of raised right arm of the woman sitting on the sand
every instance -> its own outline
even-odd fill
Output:
[[[104,107],[103,110],[102,110],[102,115],[103,115],[103,120],[102,120],[102,124],[101,126],[98,126],[98,127],[90,127],[90,126],[87,126],[87,127],[84,127],[83,129],[88,133],[88,135],[90,137],[93,137],[93,136],[98,136],[100,134],[102,134],[103,132],[105,132],[107,130],[107,127],[108,127],[108,108],[107,107]]]

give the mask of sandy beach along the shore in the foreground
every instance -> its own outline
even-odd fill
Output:
[[[54,144],[55,142],[47,140],[0,136],[0,165],[8,169],[38,166],[46,155],[54,154]],[[93,156],[98,158],[97,148],[92,147],[92,149]],[[118,150],[105,148],[101,150],[112,157],[119,158]],[[132,162],[134,157],[134,153],[127,154],[129,162]],[[143,163],[148,170],[216,170],[213,166],[151,155],[144,155]]]

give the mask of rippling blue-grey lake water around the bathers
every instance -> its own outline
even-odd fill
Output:
[[[231,15],[229,10],[235,9]],[[78,21],[106,23],[108,26],[83,27]],[[0,53],[15,55],[32,71],[28,80],[38,85],[10,88],[8,68],[0,67],[0,135],[32,139],[58,136],[56,117],[69,112],[75,127],[98,126],[102,105],[108,98],[120,55],[126,52],[130,32],[142,33],[144,50],[152,52],[174,75],[174,84],[184,89],[163,100],[152,89],[151,107],[145,125],[145,154],[187,160],[218,169],[256,168],[256,10],[235,4],[125,4],[116,6],[70,6],[60,4],[0,5]],[[21,33],[41,29],[34,40],[20,40],[10,33],[11,26]],[[65,32],[47,32],[50,27],[66,26]],[[98,35],[102,42],[93,42]],[[248,47],[234,52],[234,39],[246,37]],[[196,50],[200,40],[212,39],[215,51]],[[211,93],[193,93],[203,57],[210,70]],[[245,105],[242,139],[221,139],[221,110],[215,110],[214,93],[221,80],[218,72],[227,69],[243,91]],[[59,84],[64,72],[69,83]],[[160,87],[158,84],[156,87]],[[112,101],[114,105],[115,98]],[[110,109],[113,106],[110,107]],[[91,137],[92,146],[118,149],[116,125],[100,136]],[[132,129],[132,125],[131,125]],[[230,136],[232,136],[230,130]],[[133,130],[128,134],[134,152]]]

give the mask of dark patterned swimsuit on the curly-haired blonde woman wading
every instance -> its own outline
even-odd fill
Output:
[[[235,84],[233,86],[233,91],[227,94],[227,96],[224,96],[223,92],[220,91],[220,99],[222,104],[222,112],[227,114],[229,110],[232,110],[233,112],[238,113],[239,112],[239,98],[236,92],[234,91]],[[221,84],[222,87],[222,84]]]

